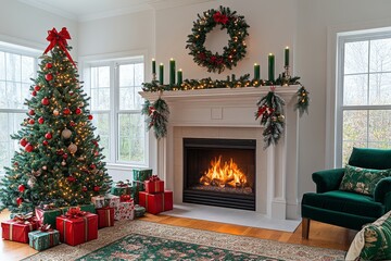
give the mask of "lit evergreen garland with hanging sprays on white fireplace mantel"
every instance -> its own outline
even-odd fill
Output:
[[[167,134],[166,124],[168,123],[169,109],[168,104],[162,99],[164,90],[193,90],[193,89],[213,89],[213,88],[245,88],[245,87],[260,87],[272,86],[270,91],[261,97],[255,112],[255,120],[261,119],[260,124],[264,126],[263,137],[265,141],[264,149],[270,145],[276,145],[285,130],[285,114],[283,114],[283,99],[275,94],[278,86],[300,85],[297,91],[297,103],[294,110],[299,111],[302,116],[304,112],[308,113],[310,96],[305,87],[299,82],[300,77],[286,78],[279,76],[276,80],[252,79],[250,74],[240,76],[238,79],[232,75],[232,80],[227,77],[227,80],[213,80],[211,77],[202,79],[185,79],[184,83],[178,85],[160,85],[159,80],[151,83],[143,83],[143,91],[160,91],[159,99],[151,105],[150,101],[146,99],[142,114],[147,115],[147,128],[153,128],[157,139],[163,138]]]

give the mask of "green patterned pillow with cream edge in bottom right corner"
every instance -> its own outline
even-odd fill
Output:
[[[345,260],[391,260],[391,211],[356,234]]]

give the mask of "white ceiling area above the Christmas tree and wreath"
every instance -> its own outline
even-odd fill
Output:
[[[217,0],[18,0],[22,3],[83,22],[146,10],[166,9]]]

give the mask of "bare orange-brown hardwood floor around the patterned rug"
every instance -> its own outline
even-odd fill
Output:
[[[0,221],[8,220],[9,216],[10,213],[8,211],[3,211],[0,213]],[[195,229],[256,237],[280,243],[291,243],[340,250],[348,250],[351,241],[356,234],[355,231],[350,231],[346,228],[323,224],[314,221],[311,222],[310,239],[306,240],[302,239],[301,226],[299,226],[294,233],[288,233],[249,226],[230,225],[217,222],[175,217],[163,214],[147,214],[141,220]],[[30,248],[27,244],[0,240],[0,260],[20,260],[36,252],[37,251]]]

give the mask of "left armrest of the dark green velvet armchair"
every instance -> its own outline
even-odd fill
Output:
[[[333,169],[314,172],[312,178],[316,184],[316,192],[338,190],[343,174],[344,169]]]

